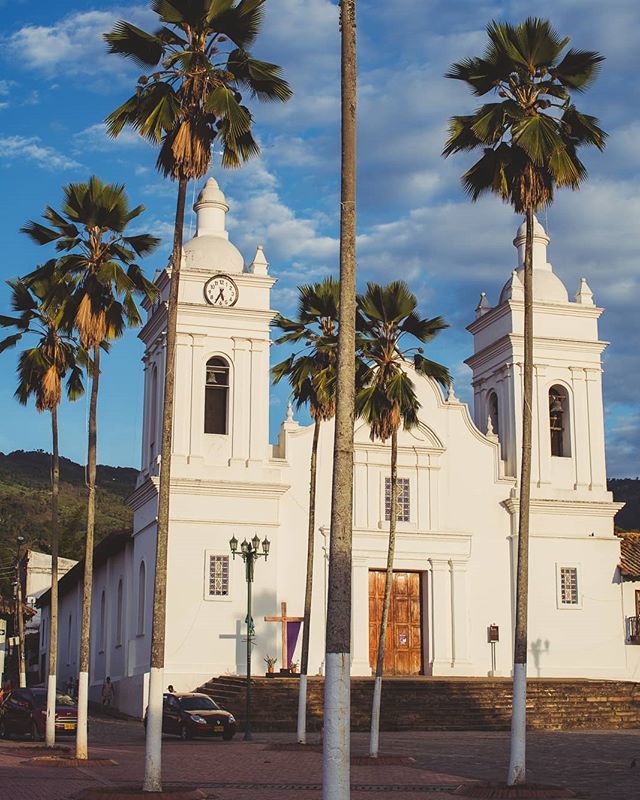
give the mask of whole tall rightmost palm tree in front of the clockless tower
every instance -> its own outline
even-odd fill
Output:
[[[481,58],[453,64],[448,78],[467,83],[476,96],[495,92],[499,100],[469,116],[452,117],[443,155],[482,149],[462,176],[472,200],[493,192],[526,218],[524,263],[524,387],[517,589],[514,636],[513,715],[508,782],[524,783],[527,692],[527,599],[529,500],[531,492],[531,409],[533,403],[533,224],[534,213],[550,204],[555,187],[578,189],[587,176],[578,149],[605,146],[598,120],[580,113],[573,92],[584,92],[597,77],[599,53],[564,52],[561,38],[542,19],[519,25],[491,22]]]

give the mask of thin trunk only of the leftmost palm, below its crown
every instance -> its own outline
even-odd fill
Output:
[[[58,492],[60,456],[58,453],[58,407],[51,409],[51,601],[49,604],[49,675],[47,677],[47,747],[56,743],[56,677],[58,671]]]

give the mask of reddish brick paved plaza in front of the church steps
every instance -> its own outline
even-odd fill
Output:
[[[117,766],[59,768],[36,765],[27,742],[0,742],[0,800],[64,800],[85,787],[139,781],[142,726],[119,719],[91,720],[91,755]],[[319,739],[308,750],[282,749],[292,734],[256,734],[255,741],[164,743],[165,780],[193,783],[220,800],[318,800],[321,797]],[[353,737],[354,756],[366,753],[367,737]],[[470,780],[504,780],[506,733],[417,732],[382,734],[381,754],[413,763],[352,767],[353,800],[446,798]],[[637,762],[638,766],[633,766]],[[531,782],[572,788],[582,798],[640,797],[640,731],[531,733]],[[388,787],[388,788],[385,788]]]

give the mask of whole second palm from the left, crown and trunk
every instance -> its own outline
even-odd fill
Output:
[[[96,510],[97,407],[100,381],[100,349],[122,336],[126,327],[142,322],[136,297],[155,299],[157,289],[135,263],[151,253],[160,240],[148,234],[125,235],[129,223],[144,206],[129,208],[124,186],[105,184],[95,176],[87,183],[64,187],[61,211],[47,206],[43,217],[50,227],[29,222],[22,231],[40,245],[56,243],[64,253],[53,262],[69,294],[63,303],[65,324],[75,328],[80,344],[91,353],[91,399],[87,454],[87,534],[82,593],[82,629],[78,674],[78,732],[76,758],[88,758],[87,709],[93,541]],[[25,278],[28,285],[49,278],[52,262]],[[48,299],[47,306],[51,302]]]

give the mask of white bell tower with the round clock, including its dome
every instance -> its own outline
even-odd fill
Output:
[[[196,235],[184,245],[176,343],[172,477],[240,477],[268,457],[269,324],[275,280],[262,247],[245,265],[229,241],[226,198],[209,178],[194,205]],[[147,307],[140,481],[159,474],[162,376],[170,269]]]

